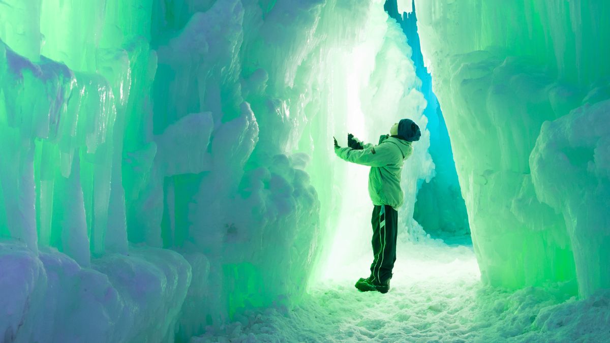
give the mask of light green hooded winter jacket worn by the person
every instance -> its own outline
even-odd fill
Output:
[[[371,167],[368,173],[368,194],[373,204],[400,208],[404,201],[404,193],[400,188],[400,173],[404,160],[413,152],[411,142],[382,135],[379,137],[379,145],[362,145],[364,150],[340,147],[335,148],[335,153],[345,161]]]

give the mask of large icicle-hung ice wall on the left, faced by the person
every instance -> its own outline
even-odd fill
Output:
[[[1,337],[184,340],[298,301],[370,212],[332,135],[425,128],[418,82],[381,0],[0,2]]]

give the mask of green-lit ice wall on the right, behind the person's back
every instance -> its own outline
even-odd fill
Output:
[[[610,287],[605,1],[415,1],[483,279]]]

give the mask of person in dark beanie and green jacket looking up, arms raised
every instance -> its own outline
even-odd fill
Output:
[[[355,284],[361,292],[390,289],[392,269],[396,262],[398,228],[397,209],[403,204],[400,175],[404,160],[413,152],[412,143],[422,135],[419,126],[410,119],[402,119],[390,128],[389,135],[381,135],[379,144],[365,144],[348,134],[348,146],[341,147],[334,139],[334,149],[341,159],[371,167],[368,174],[368,194],[373,201],[373,263],[368,278]]]

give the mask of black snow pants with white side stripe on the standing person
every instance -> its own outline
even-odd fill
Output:
[[[398,212],[389,205],[375,205],[371,224],[373,225],[371,280],[384,283],[392,278],[392,269],[396,262]]]

